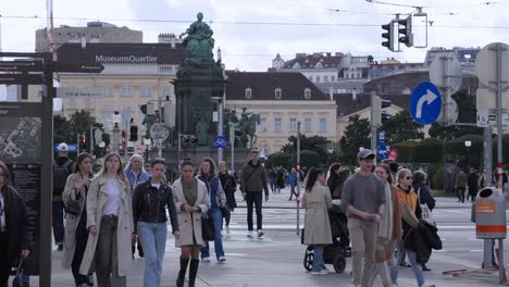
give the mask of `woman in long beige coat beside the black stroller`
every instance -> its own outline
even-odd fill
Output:
[[[302,207],[306,209],[305,245],[313,246],[313,275],[328,274],[323,262],[323,246],[332,244],[331,223],[328,210],[332,208],[332,198],[326,177],[321,169],[311,169],[306,183],[306,194]]]

